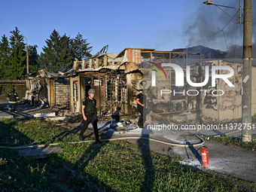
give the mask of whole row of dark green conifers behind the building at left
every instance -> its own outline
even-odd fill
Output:
[[[66,72],[72,69],[75,58],[88,59],[90,43],[78,32],[75,38],[59,35],[56,29],[50,34],[40,55],[37,45],[29,45],[29,73],[45,69],[47,72]],[[0,79],[18,80],[26,75],[26,40],[16,27],[11,37],[3,35],[0,41]]]

